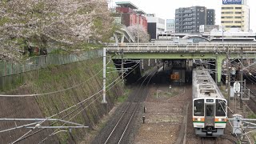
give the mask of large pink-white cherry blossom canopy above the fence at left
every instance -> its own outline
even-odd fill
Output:
[[[22,58],[25,41],[66,46],[106,40],[113,19],[105,0],[0,1],[0,59]]]

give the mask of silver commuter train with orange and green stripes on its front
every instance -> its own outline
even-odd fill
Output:
[[[219,137],[227,122],[226,99],[209,72],[193,70],[193,126],[199,137]]]

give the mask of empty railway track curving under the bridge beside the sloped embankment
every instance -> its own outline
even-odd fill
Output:
[[[150,91],[150,80],[157,70],[153,70],[150,75],[148,75],[135,94],[128,98],[125,109],[123,109],[121,116],[118,121],[109,129],[110,134],[107,134],[107,138],[102,140],[101,143],[104,144],[116,144],[116,143],[126,143],[127,142],[127,131],[129,131],[130,124],[132,123],[136,112],[140,106],[140,103],[146,98],[146,95]]]

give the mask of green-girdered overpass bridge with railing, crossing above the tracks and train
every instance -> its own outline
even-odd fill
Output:
[[[106,48],[113,59],[215,59],[218,82],[222,77],[222,62],[227,58],[256,58],[255,43],[219,43],[219,44],[166,44],[166,43],[123,43]],[[123,55],[121,55],[123,53]]]

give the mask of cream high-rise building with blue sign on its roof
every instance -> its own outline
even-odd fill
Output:
[[[224,30],[250,30],[250,9],[245,0],[222,0],[222,26]]]

